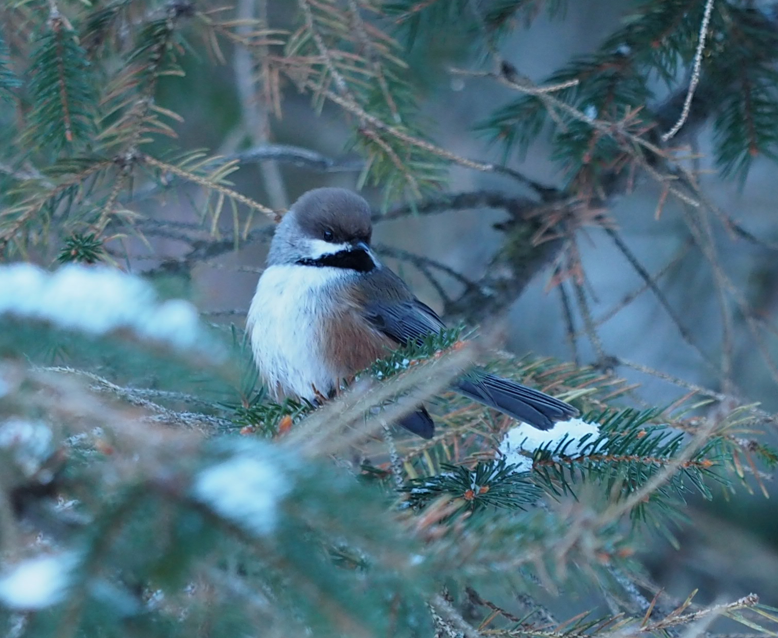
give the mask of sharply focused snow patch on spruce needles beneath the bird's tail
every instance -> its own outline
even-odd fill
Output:
[[[587,423],[581,419],[560,421],[550,430],[538,430],[521,423],[505,435],[500,443],[500,453],[508,464],[517,466],[516,472],[529,472],[532,469],[532,454],[539,447],[554,448],[567,437],[564,451],[565,454],[572,455],[580,452],[584,445],[591,443],[598,436],[599,424]]]

